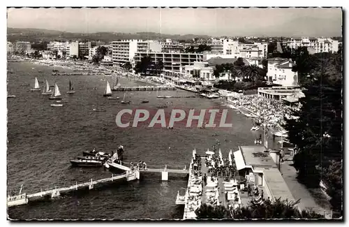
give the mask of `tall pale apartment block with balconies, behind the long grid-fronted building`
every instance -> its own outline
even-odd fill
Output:
[[[120,66],[128,61],[134,65],[135,52],[161,52],[161,44],[157,41],[122,40],[111,42],[110,45],[114,66]]]

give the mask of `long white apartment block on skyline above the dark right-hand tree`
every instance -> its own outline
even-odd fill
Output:
[[[339,49],[339,41],[332,38],[290,38],[283,42],[284,46],[297,49],[297,47],[310,47],[315,53],[320,52],[337,52]]]

